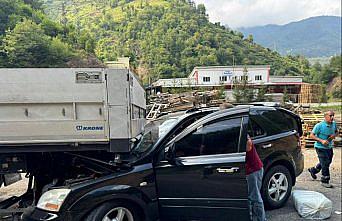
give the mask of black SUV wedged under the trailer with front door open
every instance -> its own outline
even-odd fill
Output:
[[[146,126],[116,172],[50,189],[23,219],[249,220],[247,134],[264,163],[265,204],[278,208],[303,170],[301,133],[300,118],[281,108],[164,116]]]

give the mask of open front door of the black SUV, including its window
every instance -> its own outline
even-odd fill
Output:
[[[247,121],[215,119],[165,145],[175,156],[155,165],[161,220],[248,220]]]

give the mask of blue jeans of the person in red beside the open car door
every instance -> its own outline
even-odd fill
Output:
[[[264,169],[247,175],[249,214],[252,221],[265,221],[264,202],[261,198],[261,184]]]

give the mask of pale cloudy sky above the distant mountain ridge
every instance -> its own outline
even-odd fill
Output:
[[[230,28],[287,24],[319,15],[341,16],[341,0],[194,0],[209,20]]]

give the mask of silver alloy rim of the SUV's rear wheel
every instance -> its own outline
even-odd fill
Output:
[[[287,194],[289,182],[283,173],[275,173],[268,183],[268,195],[273,201],[281,201]]]

